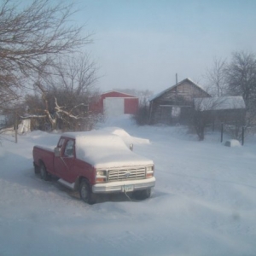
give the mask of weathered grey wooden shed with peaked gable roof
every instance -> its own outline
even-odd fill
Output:
[[[188,124],[194,109],[194,98],[211,97],[191,79],[183,79],[150,99],[149,122],[168,125]]]

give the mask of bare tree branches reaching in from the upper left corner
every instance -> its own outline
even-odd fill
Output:
[[[90,35],[82,36],[83,26],[71,22],[75,12],[73,3],[49,0],[34,0],[25,8],[11,0],[1,3],[0,107],[18,96],[17,88],[20,92],[32,84],[35,73],[55,67],[58,55],[91,42]]]

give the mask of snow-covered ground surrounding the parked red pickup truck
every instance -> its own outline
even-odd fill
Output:
[[[124,128],[134,151],[154,160],[152,197],[104,196],[86,205],[33,172],[33,145],[54,146],[58,135],[33,131],[17,144],[2,135],[1,256],[256,255],[255,138],[228,148],[218,134],[200,143],[183,127],[106,125]]]

